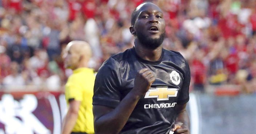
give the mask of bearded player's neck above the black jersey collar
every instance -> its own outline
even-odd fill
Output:
[[[143,46],[139,41],[135,40],[135,51],[137,55],[147,61],[158,61],[162,54],[162,45],[156,49],[149,49]]]

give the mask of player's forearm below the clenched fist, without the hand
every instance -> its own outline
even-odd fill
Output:
[[[139,94],[133,91],[129,92],[114,110],[95,120],[95,134],[119,133],[139,99]]]

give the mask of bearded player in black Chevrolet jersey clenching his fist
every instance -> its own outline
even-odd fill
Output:
[[[190,69],[180,53],[163,49],[163,17],[157,5],[140,4],[131,17],[134,47],[99,69],[95,134],[189,134]]]

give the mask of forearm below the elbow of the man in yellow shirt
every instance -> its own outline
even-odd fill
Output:
[[[63,127],[61,130],[61,134],[71,134],[72,129],[74,128],[76,124],[78,114],[69,112],[67,113],[64,121],[63,121]]]

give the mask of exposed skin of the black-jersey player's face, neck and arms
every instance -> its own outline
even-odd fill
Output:
[[[131,33],[135,36],[135,50],[139,57],[148,61],[157,61],[162,54],[162,45],[157,48],[147,48],[147,44],[141,44],[136,36],[137,32],[145,34],[149,38],[159,38],[165,32],[163,13],[159,7],[152,3],[145,3],[137,7],[138,16],[135,24],[130,27]],[[157,31],[149,31],[150,27],[157,27]],[[135,77],[133,89],[121,100],[115,108],[93,105],[95,134],[118,134],[123,129],[129,116],[134,110],[140,97],[143,96],[155,81],[151,70],[143,68]],[[186,111],[186,104],[176,105],[177,119],[172,126],[175,134],[189,134],[189,118]]]

